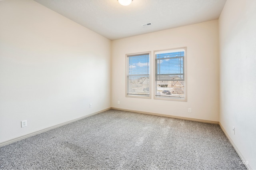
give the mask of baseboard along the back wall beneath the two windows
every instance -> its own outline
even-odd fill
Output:
[[[142,112],[142,111],[133,111],[133,110],[128,110],[128,109],[114,108],[114,107],[111,107],[111,109],[119,110],[119,111],[128,111],[128,112],[142,113],[142,114],[147,114],[147,115],[155,115],[155,116],[162,116],[162,117],[170,117],[170,118],[175,118],[175,119],[184,119],[184,120],[188,120],[188,121],[196,121],[196,122],[204,122],[204,123],[219,124],[219,122],[216,122],[216,121],[206,121],[206,120],[202,120],[202,119],[192,119],[192,118],[187,118],[187,117],[178,117],[178,116],[171,116],[171,115],[163,115],[163,114],[158,114],[158,113],[150,113],[150,112]]]

